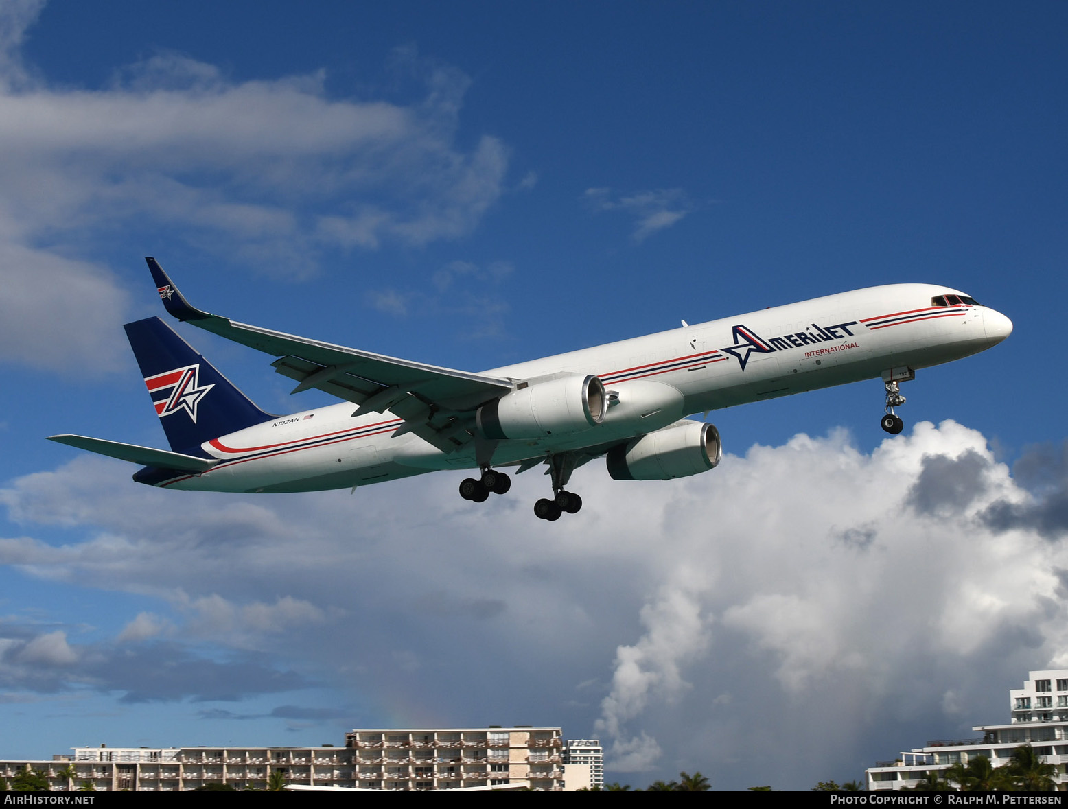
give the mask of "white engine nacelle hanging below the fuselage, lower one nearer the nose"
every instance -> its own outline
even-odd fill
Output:
[[[707,423],[689,422],[613,447],[606,461],[613,480],[669,480],[708,472],[722,455],[720,431]]]

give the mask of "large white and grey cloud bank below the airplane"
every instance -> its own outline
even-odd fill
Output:
[[[340,704],[404,704],[407,724],[560,723],[603,734],[617,772],[806,789],[1004,721],[1028,668],[1065,665],[1068,546],[990,517],[1052,508],[1061,453],[1033,450],[1014,477],[952,422],[871,453],[802,434],[684,480],[615,482],[588,464],[570,485],[582,511],[556,523],[530,512],[536,473],[475,505],[458,475],[220,496],[83,459],[0,491],[25,534],[0,541],[0,561],[156,599],[158,618],[128,620],[145,628],[145,683],[148,651],[175,662],[160,695],[240,697],[226,687],[240,664],[249,693],[315,681]],[[41,523],[64,538],[34,537]],[[163,620],[173,630],[151,636]],[[5,634],[16,694],[33,634]],[[202,687],[205,643],[230,656]],[[33,688],[157,698],[69,647],[69,663],[34,664]]]

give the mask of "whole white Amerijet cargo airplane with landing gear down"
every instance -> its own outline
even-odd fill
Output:
[[[508,491],[501,467],[546,463],[553,496],[534,506],[543,520],[582,507],[564,487],[594,458],[606,458],[615,480],[713,469],[719,431],[685,418],[692,413],[881,378],[882,428],[896,434],[900,382],[1012,331],[1005,315],[956,289],[894,284],[468,374],[210,315],[146,260],[171,315],[279,358],[276,370],[298,382],[293,393],[317,387],[345,402],[265,413],[153,317],[125,328],[171,450],[52,441],[144,464],[134,475],[141,483],[220,492],[355,491],[470,469],[481,474],[460,483],[460,495],[481,503]]]

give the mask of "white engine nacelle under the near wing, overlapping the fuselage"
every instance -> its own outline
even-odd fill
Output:
[[[604,421],[608,395],[591,375],[550,379],[483,404],[475,414],[487,439],[543,439],[569,435]]]

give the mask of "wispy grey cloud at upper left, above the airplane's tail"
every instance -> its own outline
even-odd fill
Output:
[[[0,361],[115,366],[126,296],[77,257],[104,239],[163,226],[301,276],[325,250],[464,236],[504,190],[503,143],[455,145],[455,68],[398,54],[423,85],[410,104],[331,97],[321,73],[234,81],[173,52],[109,86],[57,88],[19,52],[42,6],[0,10]]]

